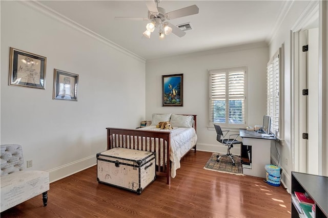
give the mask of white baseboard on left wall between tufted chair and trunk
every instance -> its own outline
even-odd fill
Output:
[[[57,180],[71,176],[76,172],[82,171],[96,164],[97,164],[97,158],[95,155],[92,155],[90,157],[51,169],[49,170],[49,177],[50,177],[49,181],[50,183],[55,182]]]

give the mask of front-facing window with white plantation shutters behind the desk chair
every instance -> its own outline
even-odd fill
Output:
[[[246,68],[210,70],[209,86],[209,126],[245,126]]]

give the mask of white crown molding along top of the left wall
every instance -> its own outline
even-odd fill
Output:
[[[130,57],[133,57],[135,58],[136,60],[142,62],[142,63],[146,63],[146,59],[145,58],[142,58],[140,57],[139,55],[125,49],[124,47],[122,46],[119,46],[118,44],[116,44],[115,42],[112,42],[111,40],[93,32],[92,30],[89,30],[88,28],[76,23],[75,21],[73,21],[72,19],[52,10],[51,8],[43,5],[42,3],[38,2],[38,1],[17,1],[19,3],[22,3],[22,4],[25,4],[39,12],[42,12],[43,14],[49,16],[49,17],[52,17],[52,18],[55,18],[57,19],[58,21],[60,21],[61,23],[65,24],[65,25],[68,25],[86,35],[89,35],[97,40],[99,40],[100,42],[103,42],[105,43],[107,46],[110,46],[111,48],[121,52],[121,53],[124,53]]]

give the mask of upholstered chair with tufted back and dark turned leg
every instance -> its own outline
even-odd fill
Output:
[[[49,172],[25,170],[22,146],[1,145],[1,212],[42,193],[47,206]]]

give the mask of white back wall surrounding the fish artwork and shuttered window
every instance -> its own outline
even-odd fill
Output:
[[[267,44],[255,43],[147,61],[147,120],[151,120],[153,113],[196,114],[197,149],[227,152],[227,147],[216,141],[214,128],[208,128],[208,70],[246,66],[247,125],[262,124],[266,113],[268,52]],[[183,106],[161,106],[161,76],[179,73],[183,73]],[[236,147],[232,152],[239,154],[240,148]]]

